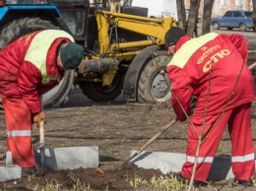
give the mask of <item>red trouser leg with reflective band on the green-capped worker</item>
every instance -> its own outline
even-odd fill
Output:
[[[22,98],[2,96],[6,120],[7,151],[14,164],[34,166],[32,150],[32,113]]]

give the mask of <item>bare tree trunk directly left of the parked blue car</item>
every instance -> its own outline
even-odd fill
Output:
[[[253,0],[253,1],[255,1],[255,0]],[[205,0],[204,1],[202,34],[208,33],[211,30],[211,16],[212,16],[213,5],[214,5],[214,0]]]

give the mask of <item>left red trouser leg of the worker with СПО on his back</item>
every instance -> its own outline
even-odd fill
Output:
[[[195,180],[197,181],[206,181],[208,178],[208,174],[210,168],[212,166],[214,157],[216,155],[217,149],[221,142],[224,128],[228,121],[228,118],[231,114],[231,111],[227,111],[221,117],[221,120],[218,124],[214,127],[213,131],[209,134],[206,140],[201,145],[199,151],[199,158],[197,161],[196,173],[195,173]],[[208,116],[206,120],[206,124],[204,127],[204,135],[206,132],[209,132],[215,122],[219,119],[219,115]],[[198,132],[198,135],[201,134],[201,129],[204,123],[204,116],[193,116],[192,122],[195,126],[195,129]],[[189,124],[188,128],[188,143],[187,143],[187,152],[186,152],[186,162],[182,166],[181,175],[185,178],[190,179],[193,171],[193,165],[195,162],[195,155],[196,150],[198,147],[199,137],[196,134],[193,126]]]

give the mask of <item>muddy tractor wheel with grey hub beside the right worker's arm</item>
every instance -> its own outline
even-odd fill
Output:
[[[138,84],[139,102],[166,102],[170,99],[170,81],[166,66],[171,56],[151,59],[143,69]]]

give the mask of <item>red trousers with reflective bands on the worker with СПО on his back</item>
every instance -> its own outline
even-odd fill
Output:
[[[196,180],[205,181],[207,179],[224,134],[226,124],[228,125],[228,131],[232,142],[231,167],[233,174],[238,180],[252,178],[255,173],[255,161],[251,135],[251,122],[250,118],[248,118],[251,114],[250,104],[251,103],[247,103],[224,112],[221,120],[201,145],[197,170],[195,173]],[[220,118],[220,115],[221,114],[207,116],[205,132],[209,132],[209,129],[211,129],[215,122]],[[191,120],[200,135],[204,118],[195,116],[192,117]],[[206,134],[207,133],[205,133],[205,135]],[[186,152],[187,161],[183,164],[181,174],[184,177],[190,178],[198,146],[198,136],[191,124],[189,125],[188,135],[188,147]]]

